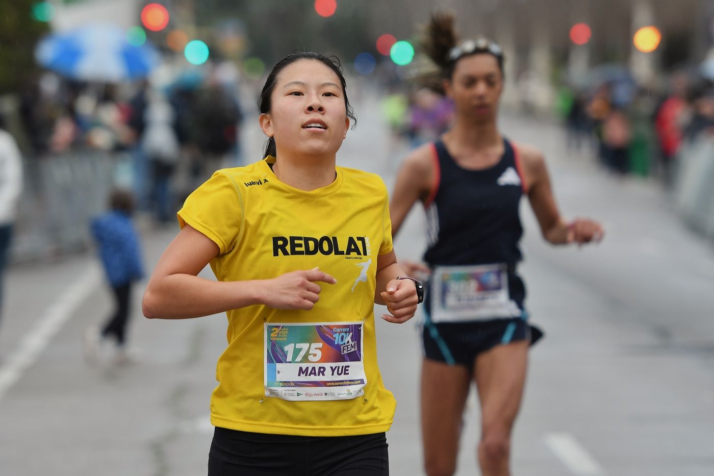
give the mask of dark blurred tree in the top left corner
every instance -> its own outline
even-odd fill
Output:
[[[0,94],[18,91],[39,69],[35,61],[37,40],[49,25],[32,18],[36,0],[2,2],[0,14]]]

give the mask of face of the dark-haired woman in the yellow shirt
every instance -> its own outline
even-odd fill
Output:
[[[350,125],[339,77],[320,61],[289,64],[278,74],[271,110],[260,122],[278,154],[336,154]]]

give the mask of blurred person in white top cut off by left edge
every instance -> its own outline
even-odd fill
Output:
[[[17,204],[22,192],[21,160],[17,143],[14,137],[6,131],[4,117],[0,115],[0,314],[3,302],[2,280],[7,264]]]

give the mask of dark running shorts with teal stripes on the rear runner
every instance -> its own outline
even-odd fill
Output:
[[[481,352],[519,340],[530,340],[533,345],[540,337],[543,332],[521,317],[476,322],[426,322],[422,332],[424,357],[449,365],[464,365],[470,372]]]

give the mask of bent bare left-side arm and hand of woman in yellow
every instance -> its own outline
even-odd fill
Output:
[[[141,307],[149,318],[186,319],[252,304],[276,309],[312,309],[317,282],[333,284],[329,274],[310,269],[261,281],[218,282],[197,274],[218,254],[206,235],[186,225],[161,255],[146,286]]]

